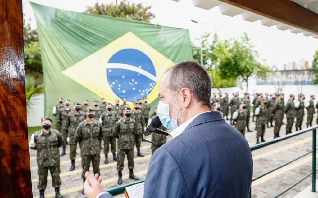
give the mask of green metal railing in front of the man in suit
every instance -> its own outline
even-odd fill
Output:
[[[304,179],[306,179],[307,177],[309,176],[312,176],[312,189],[311,191],[312,192],[316,192],[316,171],[318,169],[316,169],[316,150],[318,148],[316,148],[316,129],[318,128],[318,125],[315,125],[315,126],[312,126],[312,127],[309,127],[309,128],[306,128],[306,129],[303,129],[303,130],[300,130],[300,131],[297,131],[297,132],[294,132],[294,133],[290,133],[288,135],[285,135],[285,136],[282,136],[282,137],[278,137],[278,138],[275,138],[275,139],[272,139],[272,140],[269,140],[269,141],[266,141],[266,142],[263,142],[263,143],[260,143],[260,144],[256,144],[256,145],[253,145],[250,147],[251,151],[253,150],[257,150],[257,149],[260,149],[260,148],[263,148],[265,146],[268,146],[270,144],[274,144],[274,143],[277,143],[277,142],[280,142],[280,141],[283,141],[283,140],[286,140],[288,138],[291,138],[291,137],[295,137],[295,136],[298,136],[298,135],[301,135],[303,133],[306,133],[308,131],[313,131],[313,147],[312,147],[312,150],[302,154],[301,156],[298,156],[270,171],[267,171],[266,173],[263,173],[262,175],[259,175],[257,177],[254,177],[252,179],[252,182],[255,181],[255,180],[258,180],[259,178],[263,177],[263,176],[266,176],[268,175],[269,173],[277,170],[277,169],[280,169],[290,163],[293,163],[294,161],[300,159],[301,157],[304,157],[310,153],[312,153],[312,171],[309,172],[307,175],[305,175],[304,177],[302,177],[300,180],[296,181],[295,183],[293,183],[291,186],[289,186],[288,188],[286,188],[284,191],[280,192],[278,195],[275,195],[274,198],[276,197],[279,197],[280,195],[286,193],[288,190],[290,190],[291,188],[293,188],[294,186],[296,186],[297,184],[299,184],[301,181],[303,181]],[[132,185],[135,185],[135,184],[138,184],[138,183],[141,183],[141,182],[144,182],[145,180],[140,180],[138,182],[133,182],[133,183],[129,183],[129,184],[126,184],[126,185],[122,185],[122,186],[119,186],[119,187],[115,187],[115,188],[112,188],[112,189],[109,189],[107,190],[107,192],[109,192],[110,194],[112,194],[113,196],[116,196],[116,195],[121,195],[124,193],[126,187],[129,187],[129,186],[132,186]],[[249,198],[252,197],[252,191],[250,190],[250,195],[249,195]],[[86,198],[86,196],[84,197],[81,197],[81,198]]]

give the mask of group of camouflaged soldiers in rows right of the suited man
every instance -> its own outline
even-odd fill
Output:
[[[211,108],[218,111],[225,119],[228,120],[228,112],[231,109],[230,125],[233,125],[239,132],[245,136],[245,131],[253,132],[249,128],[251,116],[251,100],[250,94],[244,93],[243,98],[239,98],[239,93],[233,93],[232,99],[228,98],[228,93],[222,98],[222,93],[213,93],[211,98]],[[305,112],[307,112],[306,126],[312,126],[315,107],[318,108],[318,103],[315,105],[315,96],[311,95],[308,101],[305,101],[304,94],[298,95],[298,100],[295,102],[295,95],[290,94],[285,105],[283,93],[256,93],[252,101],[253,114],[252,121],[256,123],[256,143],[265,142],[265,129],[273,127],[274,138],[280,137],[280,128],[283,123],[284,115],[286,114],[286,135],[292,133],[292,127],[295,123],[295,131],[301,130]],[[307,111],[305,111],[305,108]],[[318,124],[318,118],[316,120]]]

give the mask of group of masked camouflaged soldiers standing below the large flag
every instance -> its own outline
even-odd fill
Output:
[[[112,152],[113,161],[117,161],[118,184],[122,184],[121,171],[126,155],[129,178],[139,180],[133,173],[134,147],[136,145],[137,156],[143,157],[140,146],[144,127],[149,122],[150,105],[147,104],[147,99],[138,99],[134,102],[132,110],[126,104],[125,98],[122,101],[122,105],[119,105],[119,100],[116,99],[113,106],[102,98],[100,103],[94,100],[89,105],[89,101],[84,99],[83,105],[75,102],[71,107],[69,99],[59,98],[58,105],[54,106],[52,111],[53,116],[56,117],[57,129],[51,128],[51,118],[41,119],[42,129],[32,135],[29,143],[31,149],[37,150],[40,198],[44,197],[49,169],[56,197],[63,197],[59,193],[61,185],[59,160],[60,156],[66,155],[67,145],[70,146],[70,171],[73,171],[75,169],[76,148],[79,144],[83,182],[85,182],[84,175],[86,171],[89,171],[90,164],[92,164],[93,172],[100,174],[100,153],[102,150],[105,155],[105,164],[109,163],[109,150]],[[163,141],[162,138],[155,137],[154,142],[161,146],[166,142],[166,139]],[[61,146],[62,152],[60,154],[59,147]],[[154,148],[152,148],[153,152]],[[84,193],[83,189],[82,194]]]

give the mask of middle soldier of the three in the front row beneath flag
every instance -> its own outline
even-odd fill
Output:
[[[79,123],[75,131],[75,138],[82,142],[82,178],[85,182],[85,172],[89,171],[90,163],[93,165],[94,174],[100,175],[100,143],[102,139],[102,126],[94,119],[94,108],[86,108],[86,119]],[[82,190],[84,195],[84,188]]]

